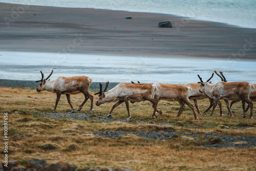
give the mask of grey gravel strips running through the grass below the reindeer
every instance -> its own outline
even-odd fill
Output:
[[[119,118],[106,118],[105,116],[98,116],[96,114],[78,114],[78,113],[43,113],[45,117],[49,118],[69,118],[69,119],[80,119],[80,120],[91,120],[97,122],[129,122],[130,124],[139,124],[139,123],[148,123],[153,126],[158,127],[158,125],[172,125],[173,123],[163,123],[163,122],[146,122],[146,121],[136,121]],[[198,126],[198,124],[189,124],[190,127]],[[224,125],[220,125],[224,126]],[[175,132],[175,129],[169,129],[169,127],[158,127],[158,132],[124,132],[124,131],[95,131],[92,134],[99,135],[101,137],[107,138],[118,138],[119,136],[125,134],[134,134],[139,137],[144,137],[148,139],[155,139],[160,141],[165,141],[170,138],[183,137],[187,140],[195,140],[202,138],[204,140],[209,140],[210,143],[203,144],[198,143],[198,145],[203,145],[205,147],[234,147],[234,148],[246,148],[246,147],[255,147],[256,146],[256,138],[254,136],[227,136],[227,135],[219,135],[212,133],[204,133],[204,132],[196,132],[196,133],[179,133]],[[246,129],[246,128],[245,128]]]

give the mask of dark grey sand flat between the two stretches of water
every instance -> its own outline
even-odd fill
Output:
[[[7,27],[3,18],[19,7],[25,11]],[[228,58],[246,39],[256,40],[256,29],[191,19],[186,24],[184,17],[167,14],[5,3],[0,11],[0,51]],[[166,20],[174,27],[158,28]],[[255,51],[253,46],[241,57],[255,59]]]

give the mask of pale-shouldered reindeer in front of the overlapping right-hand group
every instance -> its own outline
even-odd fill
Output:
[[[199,76],[200,77],[200,76]],[[214,106],[210,116],[213,116],[215,108],[220,99],[223,99],[227,105],[228,112],[231,117],[234,117],[228,100],[239,100],[245,101],[250,106],[250,119],[252,119],[253,103],[249,98],[251,90],[254,89],[254,85],[248,82],[225,82],[225,80],[217,82],[216,84],[210,84],[209,82],[203,82],[201,80],[201,93],[205,93],[210,98],[214,98]],[[222,115],[220,115],[222,116]],[[245,112],[243,117],[246,117]]]

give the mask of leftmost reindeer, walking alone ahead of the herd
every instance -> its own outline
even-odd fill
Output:
[[[79,109],[77,111],[81,111],[83,104],[86,103],[86,101],[89,98],[91,99],[90,112],[93,111],[93,96],[89,93],[89,87],[90,87],[90,84],[92,83],[91,78],[86,76],[77,76],[77,77],[58,77],[55,80],[50,80],[50,79],[48,80],[48,78],[52,75],[52,73],[53,73],[53,70],[51,74],[46,79],[44,79],[44,74],[41,72],[41,75],[42,75],[41,80],[38,80],[35,82],[41,82],[38,88],[36,89],[37,92],[46,90],[48,92],[57,94],[57,99],[56,99],[55,108],[54,108],[55,111],[56,111],[61,94],[66,94],[68,102],[72,109],[72,113],[74,113],[75,108],[71,104],[70,94],[78,94],[78,93],[82,93],[86,99],[84,99],[84,101],[79,106]]]

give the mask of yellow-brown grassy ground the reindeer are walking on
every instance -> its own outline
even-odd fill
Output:
[[[97,96],[94,96],[96,102]],[[71,102],[78,109],[83,95],[71,95]],[[20,159],[46,159],[48,163],[68,162],[78,166],[78,170],[97,166],[129,168],[134,170],[255,170],[256,148],[205,148],[201,140],[188,141],[172,138],[166,141],[145,139],[137,136],[121,136],[117,139],[101,138],[92,135],[94,131],[155,131],[148,123],[129,122],[101,123],[88,120],[45,118],[41,113],[54,112],[56,95],[48,92],[37,93],[34,89],[0,88],[1,118],[8,112],[9,122],[9,161]],[[104,116],[112,105],[94,106],[94,113]],[[209,102],[199,101],[201,112]],[[224,106],[223,102],[223,106]],[[242,105],[232,107],[234,118],[229,115],[219,117],[219,108],[214,117],[199,116],[194,120],[193,113],[186,107],[176,118],[179,110],[177,102],[160,101],[163,115],[152,119],[153,108],[147,101],[130,104],[132,118],[140,121],[174,123],[177,132],[206,132],[223,135],[256,136],[255,119],[242,118]],[[224,113],[227,112],[223,107]],[[82,111],[88,113],[90,99]],[[57,112],[70,112],[66,96],[62,95]],[[254,108],[254,115],[255,115]],[[210,113],[210,112],[209,112]],[[125,105],[118,106],[113,117],[126,118]],[[256,116],[254,116],[255,118]],[[3,130],[3,119],[2,130]],[[190,124],[199,124],[191,127]],[[218,125],[226,125],[222,129]],[[251,129],[246,129],[246,128]],[[3,131],[2,131],[3,133]],[[162,132],[164,133],[164,132]],[[19,136],[17,136],[19,135]],[[3,151],[3,143],[0,145]]]

